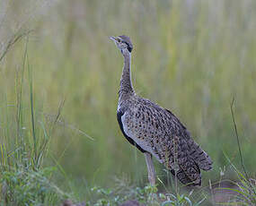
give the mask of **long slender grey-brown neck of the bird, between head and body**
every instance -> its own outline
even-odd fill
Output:
[[[124,67],[120,80],[120,90],[119,90],[119,102],[128,99],[130,96],[134,95],[134,90],[131,82],[131,72],[130,72],[130,53],[125,52],[124,56]]]

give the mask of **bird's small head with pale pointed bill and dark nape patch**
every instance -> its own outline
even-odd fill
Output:
[[[115,42],[117,47],[119,47],[119,50],[123,56],[125,56],[128,53],[131,53],[133,46],[128,36],[125,36],[125,35],[122,35],[119,37],[111,36],[110,39]]]

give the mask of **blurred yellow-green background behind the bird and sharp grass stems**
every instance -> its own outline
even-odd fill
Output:
[[[235,177],[224,152],[240,167],[233,97],[245,166],[255,176],[256,1],[26,0],[1,1],[0,11],[1,48],[17,30],[32,30],[0,63],[1,130],[14,135],[26,44],[36,116],[50,121],[65,100],[45,164],[57,161],[78,185],[110,185],[113,176],[147,181],[143,155],[116,120],[123,59],[108,37],[125,34],[134,44],[137,94],[171,109],[213,159],[204,184],[223,170]],[[29,116],[28,79],[25,71],[22,109]],[[164,180],[163,167],[155,164]]]

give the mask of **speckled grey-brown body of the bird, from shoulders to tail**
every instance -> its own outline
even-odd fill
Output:
[[[183,184],[200,185],[200,169],[211,168],[207,153],[171,111],[137,95],[119,102],[118,120],[128,141],[148,151]]]

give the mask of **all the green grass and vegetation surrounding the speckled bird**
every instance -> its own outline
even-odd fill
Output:
[[[39,2],[0,2],[1,205],[209,205],[223,179],[236,185],[225,202],[255,204],[254,1]],[[137,93],[172,109],[214,160],[202,189],[175,188],[156,161],[158,191],[146,185],[116,123],[122,58],[108,36],[120,34],[135,45]]]

